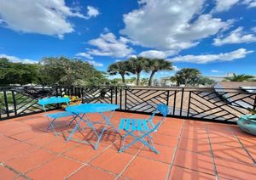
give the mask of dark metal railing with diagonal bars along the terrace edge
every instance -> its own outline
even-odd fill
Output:
[[[221,90],[221,91],[220,91]],[[210,87],[55,87],[0,88],[0,120],[41,112],[38,98],[76,95],[83,103],[118,104],[119,110],[150,114],[156,104],[167,104],[174,117],[235,122],[256,109],[256,93],[238,88]],[[2,99],[3,98],[3,99]],[[1,100],[2,99],[2,100]],[[49,107],[49,110],[55,106]]]

